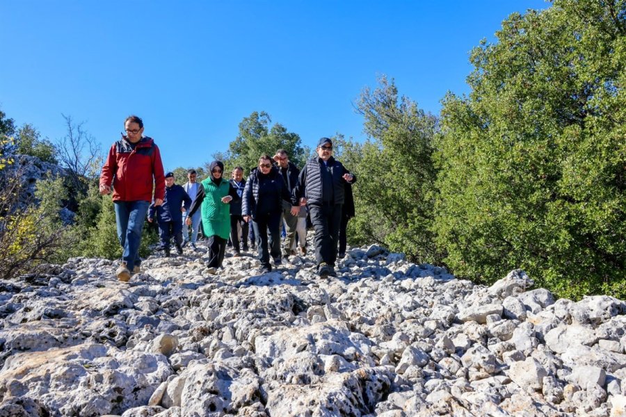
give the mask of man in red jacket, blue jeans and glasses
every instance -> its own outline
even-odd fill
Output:
[[[122,245],[122,263],[115,272],[120,281],[129,281],[131,271],[140,272],[141,231],[154,190],[154,205],[163,204],[165,177],[159,147],[143,136],[143,121],[129,116],[124,122],[126,136],[113,143],[100,174],[100,194],[111,193],[118,238]]]

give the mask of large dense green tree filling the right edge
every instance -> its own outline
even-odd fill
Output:
[[[561,297],[624,284],[626,2],[555,0],[472,51],[435,156],[437,242],[457,275],[524,268]]]

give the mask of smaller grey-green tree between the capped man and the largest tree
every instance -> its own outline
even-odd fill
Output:
[[[357,216],[348,236],[355,243],[382,243],[414,261],[436,262],[440,254],[430,231],[435,197],[431,156],[438,122],[400,97],[393,81],[383,76],[378,82],[358,102],[371,140],[360,147],[350,143],[337,156],[358,177],[353,187]],[[345,146],[342,140],[337,143]]]

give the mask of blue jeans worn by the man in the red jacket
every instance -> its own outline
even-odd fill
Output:
[[[150,202],[113,202],[115,204],[115,223],[118,226],[118,239],[122,245],[122,261],[126,268],[133,270],[141,263],[139,245],[141,231]]]

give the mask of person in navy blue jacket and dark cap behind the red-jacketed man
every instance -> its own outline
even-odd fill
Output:
[[[182,255],[182,213],[189,210],[191,198],[189,198],[184,188],[174,183],[174,174],[172,172],[166,174],[165,181],[166,193],[163,204],[161,206],[155,206],[154,203],[150,204],[148,222],[152,222],[154,215],[157,215],[161,247],[163,247],[166,256],[170,256],[170,240],[172,236],[176,252]]]

